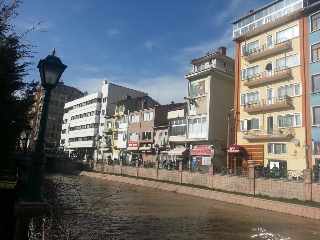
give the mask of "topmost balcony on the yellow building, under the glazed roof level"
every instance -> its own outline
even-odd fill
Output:
[[[250,62],[276,52],[287,50],[289,48],[291,48],[291,40],[284,37],[271,43],[250,49],[249,51],[244,52],[242,56],[244,56],[245,61]]]

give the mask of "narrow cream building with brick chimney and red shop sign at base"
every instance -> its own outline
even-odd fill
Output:
[[[188,79],[187,143],[192,162],[211,163],[210,145],[214,145],[214,164],[226,164],[223,149],[227,145],[228,114],[234,106],[235,60],[226,56],[226,48],[190,60],[193,68]],[[178,122],[179,123],[179,122]]]

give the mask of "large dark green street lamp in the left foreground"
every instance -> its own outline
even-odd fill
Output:
[[[67,66],[54,55],[55,49],[53,49],[52,55],[40,60],[37,66],[37,68],[39,68],[42,86],[46,91],[40,119],[38,139],[36,140],[36,149],[31,157],[31,170],[29,174],[28,187],[26,189],[25,196],[21,198],[22,202],[45,202],[45,199],[42,196],[45,165],[44,148],[46,143],[45,137],[47,133],[49,105],[51,102],[51,90],[57,86],[62,73],[67,68]]]

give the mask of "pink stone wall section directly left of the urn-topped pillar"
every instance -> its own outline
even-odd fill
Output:
[[[246,177],[214,174],[213,188],[250,194],[250,180]]]

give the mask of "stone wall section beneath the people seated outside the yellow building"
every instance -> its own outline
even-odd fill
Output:
[[[306,200],[304,185],[305,183],[298,181],[256,178],[255,194]]]

